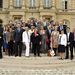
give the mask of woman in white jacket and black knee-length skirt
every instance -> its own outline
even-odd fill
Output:
[[[60,59],[64,59],[64,53],[65,53],[65,47],[67,45],[67,36],[64,34],[64,31],[61,30],[61,34],[59,34],[59,39],[58,39],[58,52],[60,54]]]

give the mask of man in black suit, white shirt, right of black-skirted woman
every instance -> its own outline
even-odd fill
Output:
[[[69,58],[69,48],[70,48],[70,59],[73,59],[73,41],[74,35],[70,32],[70,28],[67,27],[67,46],[66,46],[66,59]]]

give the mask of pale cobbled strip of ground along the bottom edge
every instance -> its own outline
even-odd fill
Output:
[[[41,70],[5,70],[0,69],[0,75],[75,75],[75,68],[41,69]]]

